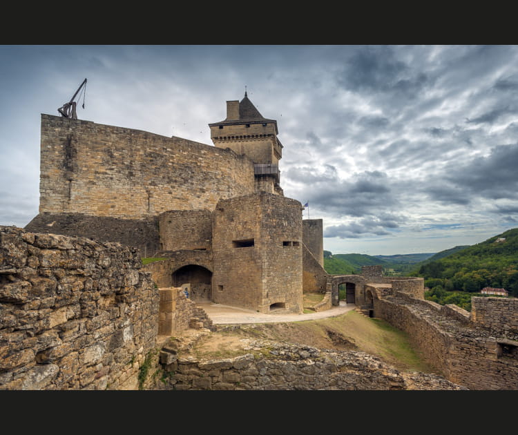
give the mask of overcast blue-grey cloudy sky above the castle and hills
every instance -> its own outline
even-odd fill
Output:
[[[247,86],[278,122],[285,196],[332,253],[518,227],[518,46],[0,46],[0,224],[37,215],[41,113],[85,78],[79,119],[209,145]]]

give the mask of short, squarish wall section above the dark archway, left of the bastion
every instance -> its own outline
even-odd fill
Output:
[[[212,247],[212,213],[209,210],[173,210],[158,217],[161,250],[207,250]]]

